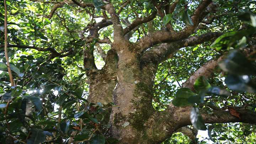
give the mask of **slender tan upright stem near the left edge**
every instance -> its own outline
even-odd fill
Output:
[[[7,69],[10,77],[11,86],[14,86],[14,80],[11,73],[11,67],[9,63],[9,57],[8,57],[8,51],[7,51],[7,6],[6,6],[6,0],[4,0],[4,9],[5,9],[5,22],[4,22],[4,28],[5,28],[5,59],[7,63]]]

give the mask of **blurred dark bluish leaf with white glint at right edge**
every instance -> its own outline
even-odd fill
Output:
[[[248,75],[228,75],[225,78],[225,84],[231,90],[239,92],[256,92],[256,84]]]

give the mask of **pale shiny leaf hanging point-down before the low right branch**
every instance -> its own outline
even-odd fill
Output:
[[[206,126],[204,124],[203,117],[201,116],[201,113],[199,112],[199,109],[196,107],[193,107],[190,112],[190,121],[193,124],[194,128],[198,130],[206,130]]]

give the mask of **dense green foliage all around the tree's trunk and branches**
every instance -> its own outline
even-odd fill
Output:
[[[106,5],[102,0],[83,0],[92,2],[96,8],[85,8],[75,4],[65,4],[55,12],[52,18],[45,17],[52,10],[54,3],[48,0],[7,0],[8,8],[8,42],[18,46],[9,47],[11,70],[16,86],[10,86],[4,48],[0,48],[0,141],[12,139],[17,143],[68,143],[74,142],[104,144],[117,143],[113,138],[105,138],[108,130],[108,118],[105,117],[113,103],[102,106],[101,103],[90,103],[86,100],[89,91],[86,72],[83,66],[83,49],[94,48],[99,39],[109,37],[113,40],[113,28],[103,28],[99,39],[94,39],[90,46],[82,38],[88,33],[83,31],[91,22],[100,21],[103,14],[101,7]],[[59,1],[55,1],[59,2]],[[120,8],[123,0],[113,0],[115,7]],[[214,20],[207,26],[208,30],[198,30],[197,34],[208,31],[228,32],[217,38],[212,44],[204,43],[186,47],[159,64],[155,77],[153,106],[162,111],[170,104],[175,106],[194,106],[191,111],[191,122],[194,128],[208,129],[209,138],[218,143],[255,143],[256,127],[250,124],[204,124],[200,109],[212,112],[210,106],[244,106],[255,111],[255,54],[244,55],[241,49],[255,45],[256,17],[255,4],[243,0],[236,4],[233,0],[215,0],[220,4],[220,11],[227,14]],[[181,31],[184,26],[193,26],[192,11],[197,1],[180,0],[173,14],[154,19],[154,28],[161,30],[169,22],[174,29]],[[147,17],[155,10],[149,0],[130,0],[127,9],[120,14],[122,19],[132,21],[137,15]],[[240,11],[239,11],[240,10]],[[86,12],[87,11],[87,12]],[[89,15],[92,12],[94,18]],[[0,45],[4,44],[3,2],[0,2]],[[98,18],[98,19],[97,19]],[[241,21],[240,21],[241,20]],[[219,22],[220,21],[220,22]],[[244,23],[242,23],[242,21]],[[124,24],[124,23],[122,23]],[[241,25],[246,28],[239,30]],[[136,42],[148,31],[144,23],[133,33],[131,42]],[[104,52],[110,49],[108,44],[100,44]],[[39,51],[37,48],[51,50]],[[54,55],[54,50],[65,57]],[[213,49],[215,50],[213,50]],[[213,74],[209,79],[203,76],[196,80],[195,91],[181,88],[189,76],[209,59],[220,54],[228,56],[219,64],[223,75]],[[94,51],[98,68],[104,65],[100,54]],[[10,137],[12,135],[16,139]],[[164,143],[189,143],[188,137],[175,133]],[[206,143],[205,141],[199,143]]]

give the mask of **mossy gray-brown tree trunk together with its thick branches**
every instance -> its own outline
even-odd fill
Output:
[[[207,14],[204,11],[208,5],[211,5],[210,3],[211,0],[203,0],[194,11],[192,16],[194,26],[187,26],[181,32],[164,30],[150,32],[137,43],[129,42],[126,36],[130,37],[130,34],[127,33],[138,25],[151,21],[156,14],[153,13],[147,18],[138,18],[123,29],[113,5],[104,6],[111,16],[111,21],[102,21],[102,24],[104,26],[113,24],[114,42],[111,43],[111,50],[106,55],[102,70],[96,69],[93,51],[90,50],[85,50],[84,65],[85,68],[89,68],[86,73],[90,85],[88,100],[103,104],[113,100],[116,105],[112,108],[110,115],[111,128],[107,132],[108,136],[117,138],[121,144],[155,144],[170,138],[172,133],[181,127],[191,124],[189,119],[191,107],[170,105],[165,111],[154,110],[152,106],[154,78],[158,64],[172,57],[176,50],[211,41],[221,34],[207,33],[189,37]],[[172,11],[171,8],[170,11]],[[87,41],[98,37],[100,29],[90,28]],[[155,46],[159,43],[162,44]],[[155,47],[150,48],[152,46]],[[148,48],[150,49],[145,51]],[[183,86],[193,89],[194,80],[198,76],[208,77],[212,74],[220,60],[212,60],[202,66]],[[255,119],[250,122],[248,119],[250,114],[254,115],[253,112],[239,111],[243,116],[241,119],[225,111],[216,111],[213,114],[202,112],[202,115],[206,123],[256,122]]]

